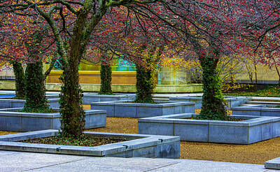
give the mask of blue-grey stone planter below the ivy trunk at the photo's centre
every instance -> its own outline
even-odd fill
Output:
[[[194,113],[195,103],[156,101],[158,103],[130,103],[132,101],[104,101],[91,103],[91,109],[103,109],[107,117],[155,117],[174,113]]]

